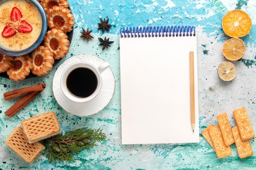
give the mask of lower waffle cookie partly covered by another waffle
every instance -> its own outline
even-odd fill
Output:
[[[45,148],[40,142],[29,144],[25,133],[19,126],[7,137],[5,144],[28,163],[34,162]]]

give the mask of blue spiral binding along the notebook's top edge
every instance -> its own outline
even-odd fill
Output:
[[[154,35],[155,34],[155,35]],[[121,38],[133,37],[178,37],[195,36],[195,26],[144,26],[144,27],[123,27],[120,29]]]

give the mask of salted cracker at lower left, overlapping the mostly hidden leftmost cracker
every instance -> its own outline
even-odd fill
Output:
[[[213,126],[208,130],[217,157],[223,158],[232,154],[231,147],[226,146],[222,137],[220,126]]]

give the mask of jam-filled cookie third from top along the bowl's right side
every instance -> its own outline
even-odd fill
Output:
[[[66,56],[69,50],[70,41],[67,35],[60,29],[52,29],[46,33],[44,46],[52,51],[54,59],[58,60]]]

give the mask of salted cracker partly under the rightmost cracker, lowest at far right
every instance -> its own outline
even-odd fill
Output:
[[[239,157],[243,159],[243,158],[252,156],[253,151],[252,151],[252,146],[250,144],[249,139],[242,141],[237,127],[232,128],[232,133],[235,139],[236,149]]]

